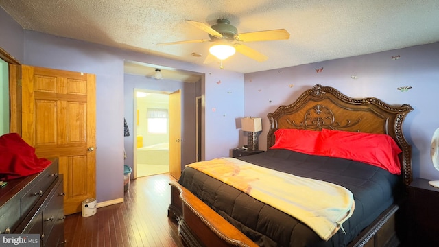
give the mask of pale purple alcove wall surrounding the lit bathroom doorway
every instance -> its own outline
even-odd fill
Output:
[[[126,118],[128,128],[130,129],[130,137],[124,137],[125,150],[127,154],[127,158],[125,160],[126,165],[130,165],[130,167],[132,167],[134,164],[134,151],[132,145],[134,135],[131,131],[134,129],[134,89],[147,89],[151,91],[164,91],[169,93],[181,89],[181,137],[183,139],[181,152],[182,169],[185,167],[185,165],[195,162],[195,92],[200,90],[197,89],[197,87],[200,88],[200,84],[176,82],[173,80],[155,80],[154,78],[147,78],[145,76],[125,74],[123,87],[125,102],[124,117]]]

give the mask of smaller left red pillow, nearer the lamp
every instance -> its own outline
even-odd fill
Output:
[[[305,154],[316,154],[316,143],[320,131],[279,129],[274,132],[276,142],[271,149],[283,148]]]

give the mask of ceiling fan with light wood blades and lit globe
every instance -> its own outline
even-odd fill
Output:
[[[230,21],[228,19],[217,19],[217,24],[212,25],[211,27],[209,27],[209,25],[206,23],[201,23],[198,21],[186,20],[186,22],[194,27],[199,28],[200,30],[203,30],[204,32],[207,32],[209,34],[209,39],[176,41],[170,43],[159,43],[157,45],[213,42],[214,45],[210,47],[209,52],[221,61],[235,54],[235,51],[238,51],[239,53],[257,60],[258,62],[263,62],[268,59],[267,56],[241,43],[289,39],[289,33],[285,29],[239,34],[237,28],[233,25],[230,25]],[[208,58],[206,58],[206,60],[208,60]]]

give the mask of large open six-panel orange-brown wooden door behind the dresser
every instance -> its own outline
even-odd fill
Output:
[[[95,75],[22,65],[22,137],[41,157],[58,157],[64,214],[96,197]]]

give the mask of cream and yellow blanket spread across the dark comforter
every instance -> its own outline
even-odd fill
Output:
[[[187,167],[292,215],[324,240],[332,237],[354,211],[351,191],[333,183],[277,172],[236,158],[215,158]]]

